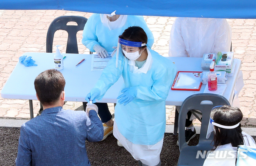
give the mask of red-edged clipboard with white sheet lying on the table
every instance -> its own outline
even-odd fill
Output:
[[[202,86],[202,76],[200,73],[202,73],[202,71],[178,71],[171,89],[181,91],[200,91]]]

